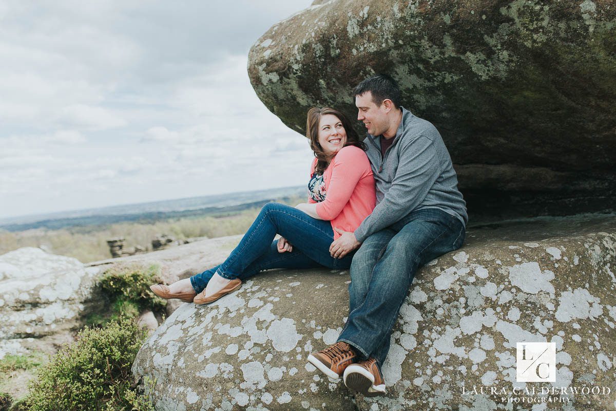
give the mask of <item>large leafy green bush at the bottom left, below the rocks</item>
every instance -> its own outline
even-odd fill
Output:
[[[38,369],[18,405],[29,411],[153,411],[132,383],[131,366],[147,331],[121,317],[102,328],[86,327],[75,343]]]

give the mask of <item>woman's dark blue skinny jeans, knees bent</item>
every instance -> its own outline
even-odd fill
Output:
[[[278,253],[276,234],[293,245],[291,253]],[[190,277],[197,293],[218,272],[225,279],[246,279],[262,270],[328,267],[348,269],[353,256],[330,255],[334,231],[329,221],[310,217],[303,211],[278,203],[267,203],[229,257],[219,266]]]

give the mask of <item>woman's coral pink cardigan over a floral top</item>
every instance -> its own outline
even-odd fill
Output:
[[[314,174],[317,158],[310,166],[310,177]],[[325,200],[317,203],[317,214],[331,222],[332,230],[355,231],[376,205],[375,179],[370,161],[359,147],[347,145],[336,154],[323,172]],[[316,201],[308,197],[309,203]],[[333,230],[334,240],[340,234]]]

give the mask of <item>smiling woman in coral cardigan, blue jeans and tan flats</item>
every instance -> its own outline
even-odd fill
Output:
[[[295,208],[266,204],[222,264],[169,287],[152,285],[156,295],[208,304],[262,270],[351,266],[352,254],[336,259],[329,250],[340,236],[337,230],[354,231],[375,208],[375,181],[365,145],[347,117],[328,107],[309,110],[306,136],[315,155],[308,202]],[[276,234],[282,235],[277,241]]]

